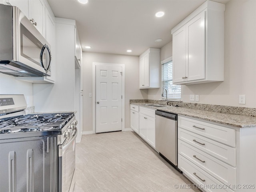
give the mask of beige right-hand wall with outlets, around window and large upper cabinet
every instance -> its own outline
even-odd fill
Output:
[[[256,1],[230,1],[226,4],[224,32],[224,82],[182,86],[182,100],[199,94],[202,104],[256,108]],[[161,61],[172,56],[167,44],[161,49]],[[246,94],[246,105],[238,104],[238,95]],[[148,99],[161,98],[161,90],[148,91]]]

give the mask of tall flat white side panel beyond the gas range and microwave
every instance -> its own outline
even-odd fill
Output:
[[[75,110],[74,25],[69,21],[56,18],[55,84],[34,84],[35,112]]]

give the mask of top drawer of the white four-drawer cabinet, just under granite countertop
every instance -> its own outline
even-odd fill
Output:
[[[236,146],[236,130],[186,117],[178,117],[178,126],[212,140]]]

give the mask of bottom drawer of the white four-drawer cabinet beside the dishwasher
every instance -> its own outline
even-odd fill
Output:
[[[228,187],[224,187],[220,181],[194,165],[192,162],[178,154],[178,168],[182,170],[183,174],[189,177],[192,181],[201,187],[206,192],[234,192]],[[223,188],[221,188],[223,186]],[[195,186],[196,187],[196,186]],[[192,186],[193,188],[193,186]]]

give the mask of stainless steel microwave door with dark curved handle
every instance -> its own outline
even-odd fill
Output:
[[[14,36],[16,38],[16,44],[14,43],[14,50],[17,51],[16,61],[50,76],[52,58],[50,45],[19,9],[16,10],[16,14],[18,15],[16,24],[14,22],[16,25]]]

